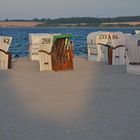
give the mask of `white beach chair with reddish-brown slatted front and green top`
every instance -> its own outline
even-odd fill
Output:
[[[73,43],[70,37],[67,34],[59,34],[51,35],[50,38],[46,39],[46,44],[41,45],[39,50],[40,71],[73,69]]]

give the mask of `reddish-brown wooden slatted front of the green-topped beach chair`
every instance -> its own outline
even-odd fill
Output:
[[[73,43],[69,38],[58,38],[52,47],[52,69],[54,71],[73,69]]]

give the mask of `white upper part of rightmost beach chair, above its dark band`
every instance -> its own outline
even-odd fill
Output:
[[[130,64],[140,64],[140,34],[129,35],[128,58]]]

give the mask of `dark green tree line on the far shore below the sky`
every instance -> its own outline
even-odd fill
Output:
[[[96,18],[96,17],[71,17],[71,18],[34,18],[31,20],[26,19],[8,19],[4,21],[35,21],[41,22],[43,24],[38,24],[38,26],[81,26],[81,27],[140,27],[137,25],[130,24],[102,24],[102,23],[112,23],[112,22],[140,22],[140,16],[125,16],[125,17],[113,17],[113,18]]]

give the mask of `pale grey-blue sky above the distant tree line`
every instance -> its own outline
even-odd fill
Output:
[[[140,15],[140,0],[1,0],[0,19]]]

